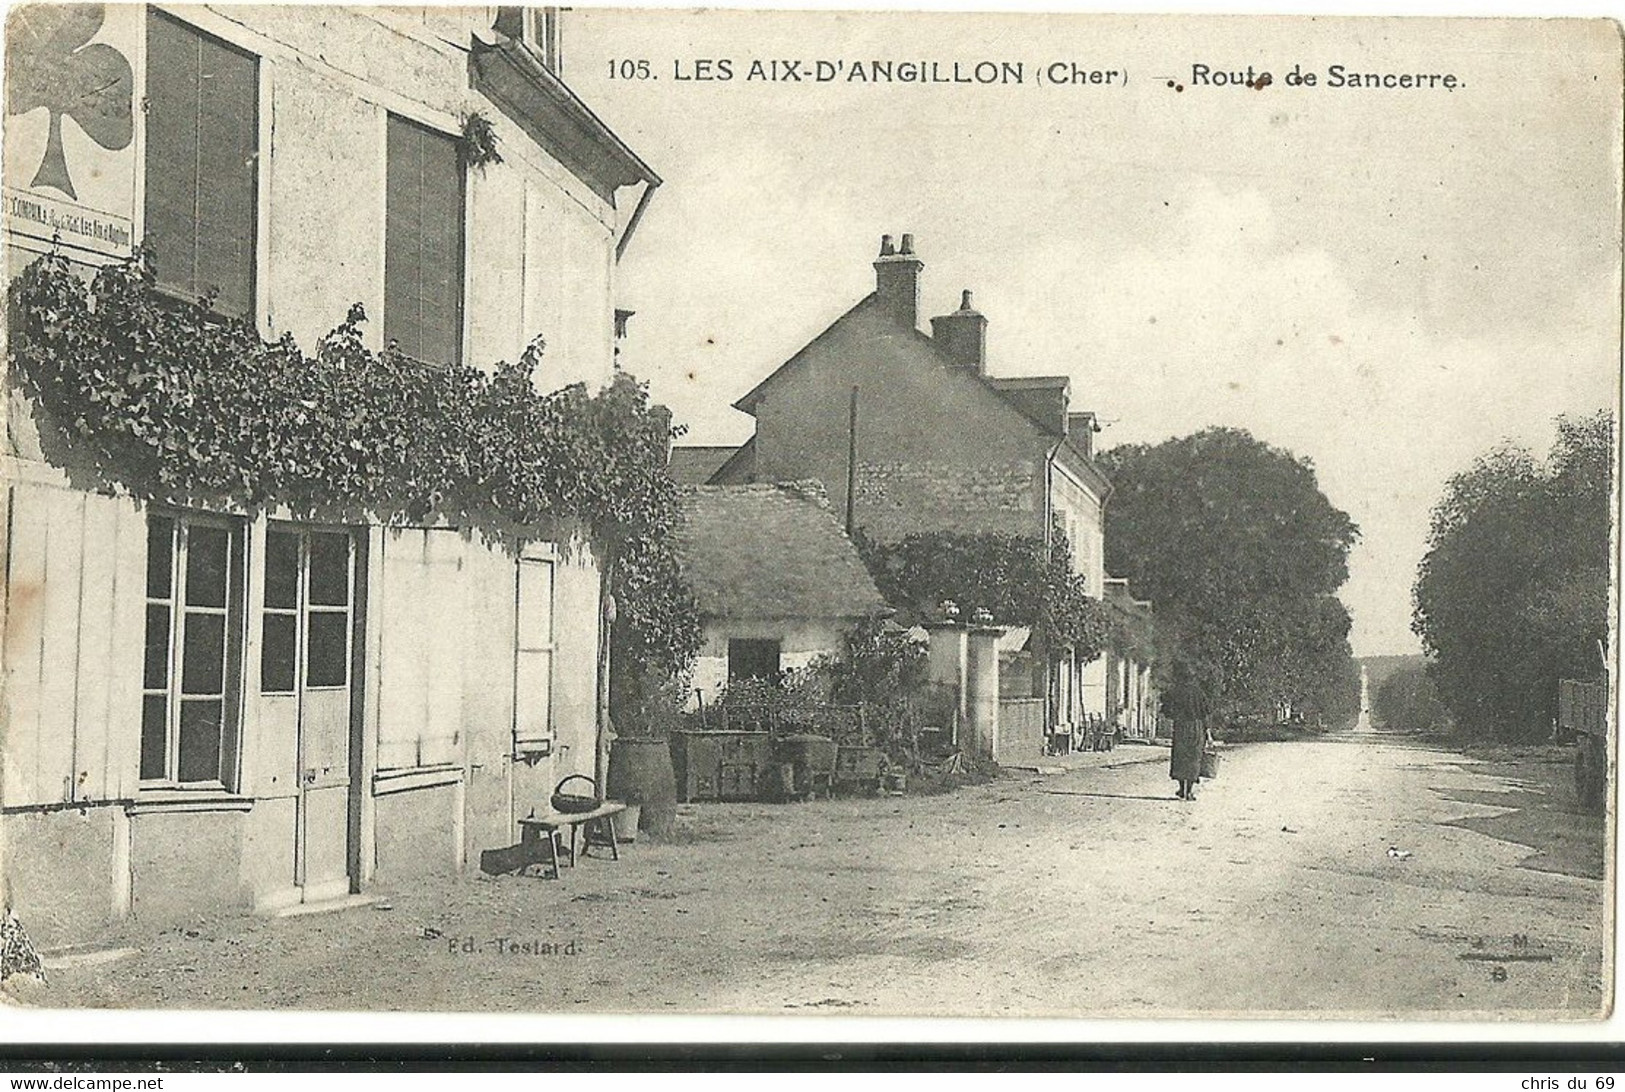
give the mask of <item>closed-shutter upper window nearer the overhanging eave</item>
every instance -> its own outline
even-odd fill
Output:
[[[427,364],[463,353],[463,169],[457,141],[390,114],[384,338]]]

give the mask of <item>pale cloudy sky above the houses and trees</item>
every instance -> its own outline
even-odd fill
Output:
[[[674,78],[700,58],[734,78]],[[1025,81],[746,80],[782,58]],[[1040,83],[1053,62],[1126,83]],[[1459,86],[1332,88],[1331,65]],[[618,297],[622,362],[682,442],[749,437],[731,403],[871,291],[881,234],[912,232],[921,325],[973,289],[990,372],[1071,375],[1102,447],[1235,426],[1311,460],[1362,530],[1357,655],[1419,648],[1450,474],[1618,401],[1606,23],[575,10],[564,75],[665,179]]]

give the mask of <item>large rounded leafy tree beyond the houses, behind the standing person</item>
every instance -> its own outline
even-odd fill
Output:
[[[1155,603],[1173,681],[1228,708],[1358,708],[1334,593],[1358,528],[1313,465],[1240,429],[1112,448],[1107,567]]]

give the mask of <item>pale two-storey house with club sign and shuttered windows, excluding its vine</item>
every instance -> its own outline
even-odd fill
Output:
[[[544,333],[540,385],[609,382],[660,179],[559,78],[554,13],[34,5],[11,37],[31,20],[107,80],[75,115],[70,58],[8,57],[62,99],[6,117],[8,280],[54,234],[86,271],[146,244],[166,296],[266,338],[310,348],[359,301],[426,367]],[[471,115],[500,162],[465,164]],[[37,421],[11,385],[0,895],[37,942],[455,874],[595,772],[588,544],[148,505]]]

